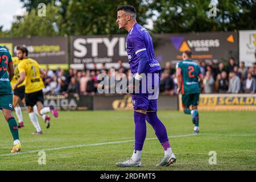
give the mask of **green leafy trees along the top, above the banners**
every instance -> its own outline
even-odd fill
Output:
[[[125,34],[115,23],[117,7],[133,5],[137,21],[151,19],[152,33],[236,31],[256,29],[256,0],[20,0],[27,13],[16,16],[11,29],[0,38],[29,36]],[[46,5],[39,16],[39,3]]]

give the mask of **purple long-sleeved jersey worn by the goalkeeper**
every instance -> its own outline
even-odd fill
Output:
[[[153,42],[148,31],[139,23],[135,23],[126,38],[126,51],[128,54],[131,73],[135,74],[138,70],[139,57],[137,54],[142,51],[147,52],[150,59],[145,73],[154,73],[161,70],[160,64],[155,59]]]

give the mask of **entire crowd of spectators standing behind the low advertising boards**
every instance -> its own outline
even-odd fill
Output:
[[[256,92],[256,63],[251,67],[246,68],[242,61],[240,65],[236,64],[233,57],[229,59],[228,65],[224,63],[214,63],[204,60],[197,61],[201,72],[204,76],[202,93],[255,93]],[[100,73],[105,73],[109,76],[109,89],[114,88],[122,78],[117,77],[118,73],[123,73],[131,80],[129,68],[123,66],[121,60],[118,61],[118,69],[114,72],[110,69],[105,69],[105,64],[102,64],[101,69],[87,69],[78,71],[76,69],[69,69],[65,72],[64,69],[57,68],[52,71],[46,67],[46,77],[44,77],[45,88],[43,92],[46,94],[80,94],[80,95],[94,95],[97,94],[98,76]],[[114,69],[114,68],[113,68]],[[175,68],[172,68],[170,62],[162,70],[160,80],[160,92],[162,94],[176,94],[177,79]]]

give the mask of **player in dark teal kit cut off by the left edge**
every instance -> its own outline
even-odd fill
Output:
[[[11,134],[13,135],[14,146],[11,153],[19,152],[22,148],[19,140],[18,126],[12,111],[13,91],[11,90],[10,80],[13,76],[14,68],[11,55],[5,47],[0,46],[0,109],[3,111],[3,115],[9,125]]]

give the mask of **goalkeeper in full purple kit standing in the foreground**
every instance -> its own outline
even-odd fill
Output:
[[[117,23],[119,29],[125,29],[129,32],[126,39],[126,51],[128,54],[131,72],[133,73],[134,83],[140,82],[142,75],[148,73],[157,74],[158,85],[155,86],[156,93],[135,93],[133,97],[134,122],[135,122],[135,146],[134,152],[130,159],[125,162],[116,163],[119,167],[141,167],[141,153],[144,140],[146,138],[146,120],[155,130],[160,143],[164,148],[164,158],[156,166],[170,166],[176,161],[175,155],[172,153],[170,142],[167,137],[166,127],[158,118],[157,100],[159,93],[161,67],[154,58],[154,48],[150,34],[136,21],[136,11],[133,6],[123,5],[117,9]],[[142,74],[144,73],[144,74]],[[152,76],[154,77],[154,76]],[[150,80],[149,80],[150,81]],[[152,80],[151,80],[152,81]],[[152,81],[152,84],[154,81]],[[146,89],[146,85],[135,84],[135,90]]]

